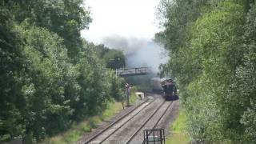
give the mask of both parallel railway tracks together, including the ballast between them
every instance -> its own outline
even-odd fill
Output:
[[[82,143],[144,143],[143,130],[156,128],[171,104],[172,102],[165,102],[162,98],[148,99]]]

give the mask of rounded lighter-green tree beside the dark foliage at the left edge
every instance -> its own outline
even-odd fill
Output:
[[[30,26],[29,26],[30,27]],[[62,38],[44,28],[18,27],[24,43],[26,68],[22,71],[22,106],[26,134],[42,139],[65,130],[72,109],[64,78],[74,70]],[[73,75],[70,75],[72,77]]]

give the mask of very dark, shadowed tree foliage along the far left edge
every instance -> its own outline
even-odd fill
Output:
[[[22,115],[18,110],[21,105],[21,82],[18,81],[24,57],[22,40],[13,30],[10,11],[0,5],[0,134],[1,139],[10,139],[20,134],[24,125],[20,123]]]

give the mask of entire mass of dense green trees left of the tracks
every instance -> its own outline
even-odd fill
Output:
[[[82,0],[2,0],[0,21],[0,142],[40,141],[122,98],[122,79],[80,36]]]

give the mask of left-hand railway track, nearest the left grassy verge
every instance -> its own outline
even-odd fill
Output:
[[[127,122],[129,122],[132,118],[134,118],[136,115],[138,115],[141,110],[146,108],[146,106],[150,106],[152,102],[154,102],[156,99],[150,100],[147,99],[145,102],[143,102],[141,105],[136,106],[133,110],[130,111],[130,113],[125,114],[121,118],[118,118],[117,121],[113,122],[110,126],[107,126],[104,130],[99,132],[98,134],[94,135],[94,137],[88,139],[86,142],[83,143],[102,143],[107,138],[110,138],[112,134],[114,134],[115,131],[119,130],[122,126],[124,126]]]

